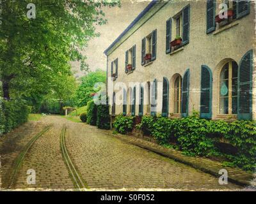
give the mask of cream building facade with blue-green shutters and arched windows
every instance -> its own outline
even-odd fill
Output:
[[[112,115],[256,119],[252,1],[152,1],[105,54]]]

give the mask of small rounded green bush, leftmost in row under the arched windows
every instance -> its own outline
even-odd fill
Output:
[[[134,127],[134,119],[135,117],[133,116],[117,115],[113,122],[113,126],[118,133],[126,134],[127,132],[132,131]]]

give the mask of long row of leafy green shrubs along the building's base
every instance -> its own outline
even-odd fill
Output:
[[[131,131],[131,117],[116,117],[114,128],[119,133]],[[244,170],[256,168],[256,121],[200,119],[197,113],[182,118],[143,116],[137,126],[145,135],[153,136],[161,145],[172,143],[175,149],[189,156],[225,157],[225,164]],[[236,149],[232,154],[221,152],[220,143],[228,143]]]

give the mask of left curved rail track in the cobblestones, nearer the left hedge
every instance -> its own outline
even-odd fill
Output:
[[[44,133],[46,133],[47,131],[49,131],[49,129],[51,129],[52,125],[46,126],[44,129],[42,129],[42,131],[40,131],[39,133],[37,133],[31,140],[29,140],[29,142],[26,144],[26,146],[24,147],[24,149],[22,149],[22,151],[20,152],[20,154],[16,157],[16,159],[13,161],[12,164],[12,170],[10,171],[10,182],[8,182],[8,187],[13,187],[13,184],[15,183],[15,179],[16,179],[16,175],[20,170],[20,166],[22,164],[22,161],[24,160],[24,157],[26,156],[26,154],[28,153],[29,149],[31,149],[32,145],[36,142],[36,140],[44,135]]]

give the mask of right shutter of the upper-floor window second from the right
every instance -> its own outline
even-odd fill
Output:
[[[182,10],[182,45],[189,43],[189,15],[190,15],[190,6],[185,6]]]

